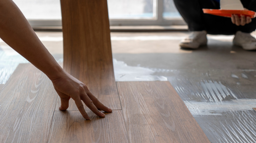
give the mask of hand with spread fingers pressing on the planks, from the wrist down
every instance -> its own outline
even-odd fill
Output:
[[[106,107],[98,101],[98,99],[89,91],[85,84],[67,72],[64,71],[61,77],[51,80],[53,82],[54,89],[58,93],[61,100],[59,110],[68,109],[69,99],[72,98],[75,101],[78,110],[85,119],[90,119],[90,117],[85,112],[81,100],[99,117],[105,117],[105,114],[100,112],[98,109],[105,112],[112,112],[112,109]]]

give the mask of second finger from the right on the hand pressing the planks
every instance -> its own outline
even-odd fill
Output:
[[[88,97],[87,94],[81,95],[81,100],[85,103],[85,105],[93,111],[99,117],[105,117],[105,114],[100,112],[96,106],[94,105],[93,101]]]

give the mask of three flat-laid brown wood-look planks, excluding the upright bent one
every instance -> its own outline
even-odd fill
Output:
[[[209,142],[169,82],[117,82],[122,110],[54,111],[50,80],[20,64],[0,92],[1,142]],[[103,101],[104,102],[104,101]]]

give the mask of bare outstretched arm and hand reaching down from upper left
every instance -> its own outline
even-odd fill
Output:
[[[85,84],[59,66],[12,0],[0,0],[0,38],[49,77],[60,96],[60,110],[66,110],[72,98],[85,119],[90,118],[81,100],[99,117],[105,117],[105,114],[98,109],[112,112],[97,100]]]

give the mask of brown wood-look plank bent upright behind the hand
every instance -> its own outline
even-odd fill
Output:
[[[61,0],[63,67],[106,106],[121,109],[106,0]],[[58,102],[59,105],[59,102]],[[73,102],[69,110],[77,110]]]

